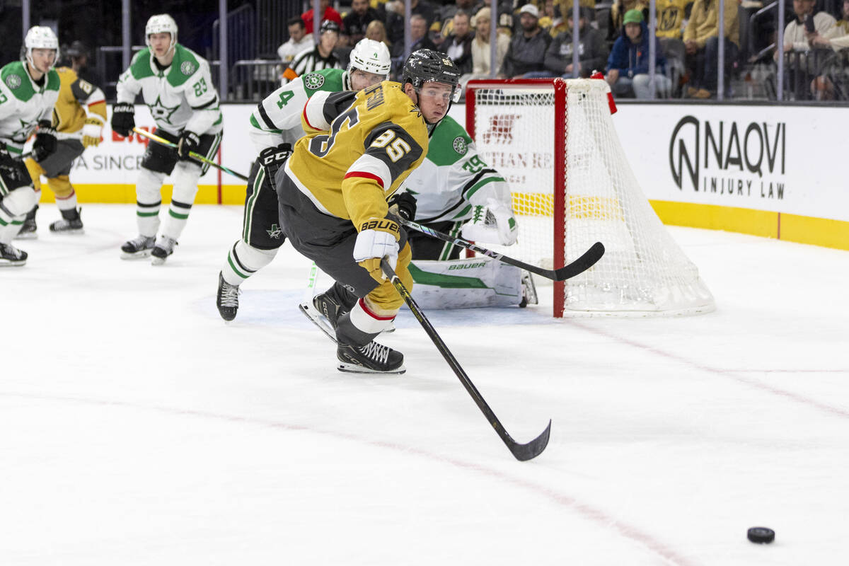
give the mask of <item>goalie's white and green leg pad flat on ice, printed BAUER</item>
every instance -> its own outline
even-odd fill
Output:
[[[416,302],[423,309],[465,309],[518,305],[522,273],[489,257],[410,264]]]

